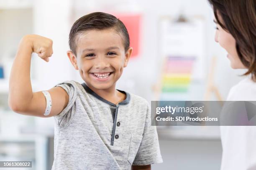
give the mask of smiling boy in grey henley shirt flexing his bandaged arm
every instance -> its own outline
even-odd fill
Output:
[[[32,52],[47,62],[53,53],[52,41],[39,35],[20,41],[10,75],[12,110],[56,120],[52,170],[150,170],[161,163],[148,102],[115,89],[132,53],[123,23],[106,13],[85,15],[72,26],[69,46],[82,84],[72,80],[32,92]]]

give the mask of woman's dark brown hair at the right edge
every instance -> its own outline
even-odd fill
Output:
[[[208,0],[217,23],[236,40],[236,50],[243,65],[244,75],[252,74],[256,81],[256,1]]]

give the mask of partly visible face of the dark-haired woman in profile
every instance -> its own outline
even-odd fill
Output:
[[[218,15],[220,22],[222,19],[220,15]],[[236,51],[236,40],[235,38],[226,30],[224,30],[216,21],[216,32],[215,32],[215,41],[220,44],[228,52],[228,59],[230,60],[230,65],[233,69],[241,69],[246,68],[241,60],[238,57],[238,53]],[[223,23],[223,22],[222,22]]]

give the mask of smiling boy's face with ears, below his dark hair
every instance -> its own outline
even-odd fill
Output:
[[[115,88],[132,48],[125,52],[123,37],[114,29],[90,30],[78,36],[77,57],[71,51],[67,55],[82,79],[92,90]]]

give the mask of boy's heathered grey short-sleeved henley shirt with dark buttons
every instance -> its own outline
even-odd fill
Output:
[[[115,105],[85,83],[65,81],[67,107],[55,119],[52,170],[131,170],[161,163],[148,102],[137,95]]]

